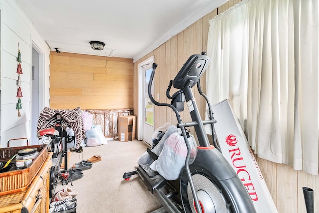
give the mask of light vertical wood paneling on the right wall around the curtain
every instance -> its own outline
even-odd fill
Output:
[[[155,94],[160,94],[160,102],[167,101],[165,94],[169,80],[175,77],[190,55],[207,51],[208,21],[240,1],[241,0],[229,0],[227,3],[187,27],[184,31],[166,41],[154,51],[136,61],[133,64],[133,80],[135,85],[138,83],[138,64],[154,55],[154,61],[158,64],[154,81]],[[204,75],[201,81],[204,92],[206,88],[205,81],[206,77]],[[173,94],[173,92],[172,90],[171,94]],[[137,87],[133,89],[133,97],[134,112],[135,115],[138,116]],[[205,111],[205,104],[199,101],[201,99],[197,93],[195,93],[195,98],[202,116]],[[181,113],[181,116],[184,116],[183,113]],[[189,121],[190,117],[187,113],[185,113],[185,116],[183,121]],[[155,107],[155,128],[165,122],[176,124],[176,116],[172,110],[167,107]],[[303,171],[296,171],[290,166],[276,164],[258,158],[257,156],[256,159],[279,213],[306,213],[302,192],[302,187],[304,186],[314,190],[315,212],[319,212],[319,176],[309,175]]]

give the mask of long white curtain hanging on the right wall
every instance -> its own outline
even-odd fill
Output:
[[[318,0],[245,0],[210,20],[207,96],[259,157],[318,174]],[[247,123],[246,123],[247,122]]]

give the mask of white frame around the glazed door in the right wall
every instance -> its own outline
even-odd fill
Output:
[[[148,59],[142,61],[141,63],[138,64],[138,69],[139,69],[139,74],[138,74],[138,135],[137,139],[138,140],[143,140],[143,123],[144,123],[144,117],[143,117],[143,102],[144,102],[144,94],[143,94],[143,76],[144,76],[144,69],[143,67],[149,63],[154,63],[154,55],[149,57]]]

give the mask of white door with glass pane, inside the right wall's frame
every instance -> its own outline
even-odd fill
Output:
[[[152,64],[143,67],[144,70],[144,98],[143,98],[143,140],[152,145],[151,136],[154,132],[154,104],[151,102],[148,94],[148,86],[152,73]],[[151,87],[152,95],[154,95],[154,86]]]

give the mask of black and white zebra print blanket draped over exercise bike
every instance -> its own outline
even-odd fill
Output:
[[[61,125],[63,129],[67,126],[73,129],[76,139],[76,148],[80,148],[82,140],[85,139],[85,130],[80,107],[74,110],[51,109],[49,107],[44,107],[39,116],[37,132],[43,129],[55,127],[57,120],[54,115],[56,113],[61,114]]]

